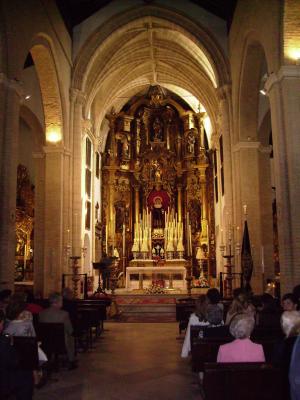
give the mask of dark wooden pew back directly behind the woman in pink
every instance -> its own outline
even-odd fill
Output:
[[[265,363],[205,363],[205,400],[284,400],[281,371]]]

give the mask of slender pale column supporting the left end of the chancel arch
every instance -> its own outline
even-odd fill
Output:
[[[82,109],[85,101],[84,93],[71,89],[71,121],[73,122],[73,179],[71,190],[72,198],[72,255],[81,255],[81,222],[82,222],[82,200],[81,200],[81,176],[82,176]]]

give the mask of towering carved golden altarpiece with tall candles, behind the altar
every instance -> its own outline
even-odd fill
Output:
[[[197,276],[200,250],[205,273],[214,275],[213,170],[204,115],[160,86],[107,115],[103,252],[115,249],[124,273],[138,260],[168,265],[192,259]]]

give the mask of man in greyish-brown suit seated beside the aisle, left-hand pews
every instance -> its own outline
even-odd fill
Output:
[[[63,298],[59,293],[51,293],[49,296],[50,307],[39,313],[39,321],[46,323],[63,323],[65,330],[65,345],[69,360],[69,369],[76,368],[75,343],[73,337],[73,326],[69,313],[62,310]]]

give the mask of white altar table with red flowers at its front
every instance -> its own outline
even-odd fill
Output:
[[[166,260],[157,265],[153,260],[132,260],[126,269],[126,289],[146,289],[153,281],[163,281],[168,289],[186,289],[186,261],[183,259]],[[133,275],[137,279],[131,279]]]

